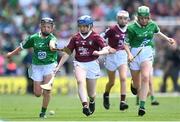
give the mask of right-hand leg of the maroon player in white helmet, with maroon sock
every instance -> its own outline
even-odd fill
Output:
[[[127,78],[127,65],[122,64],[119,69],[119,77],[120,77],[120,87],[121,87],[121,102],[120,102],[120,110],[128,109],[128,105],[126,103],[126,78]]]

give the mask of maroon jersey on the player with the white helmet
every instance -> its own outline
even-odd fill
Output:
[[[124,50],[125,32],[118,25],[106,30],[104,38],[108,38],[108,45],[116,50]]]

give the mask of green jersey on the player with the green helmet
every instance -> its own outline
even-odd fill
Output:
[[[160,31],[158,25],[154,21],[149,21],[149,23],[142,27],[137,21],[128,25],[127,37],[125,39],[131,48],[132,47],[142,47],[151,46],[154,48],[153,36],[154,33]]]

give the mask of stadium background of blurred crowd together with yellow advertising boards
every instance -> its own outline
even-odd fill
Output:
[[[22,51],[12,60],[3,57],[12,51],[30,34],[38,32],[41,17],[52,17],[56,23],[55,34],[58,46],[63,48],[69,38],[77,31],[78,16],[89,14],[95,19],[94,27],[98,33],[111,24],[116,23],[116,12],[121,9],[129,11],[131,19],[140,5],[151,9],[152,19],[159,24],[161,31],[177,40],[180,45],[180,1],[179,0],[0,0],[0,93],[26,93],[24,57],[30,53]],[[155,91],[159,91],[164,69],[164,55],[168,48],[164,40],[155,39],[156,56],[154,64]],[[61,57],[61,53],[59,53]],[[65,63],[55,80],[53,93],[76,93],[76,82],[73,77],[72,60]],[[102,93],[106,80],[103,57],[100,58],[103,78],[98,80],[98,93]],[[8,65],[13,64],[13,65]],[[9,72],[13,70],[13,72]],[[117,79],[118,81],[118,79]],[[129,83],[128,79],[128,91]],[[119,92],[116,82],[113,92]],[[172,83],[168,82],[168,91],[172,91]]]

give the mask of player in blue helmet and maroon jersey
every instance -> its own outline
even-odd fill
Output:
[[[67,47],[63,49],[64,54],[55,69],[55,73],[75,50],[73,64],[78,95],[83,106],[83,114],[89,116],[95,111],[96,79],[100,76],[98,56],[93,55],[93,52],[99,48],[103,48],[101,53],[109,53],[109,51],[105,47],[103,39],[92,30],[93,19],[90,16],[79,17],[77,24],[79,32],[71,38]]]

